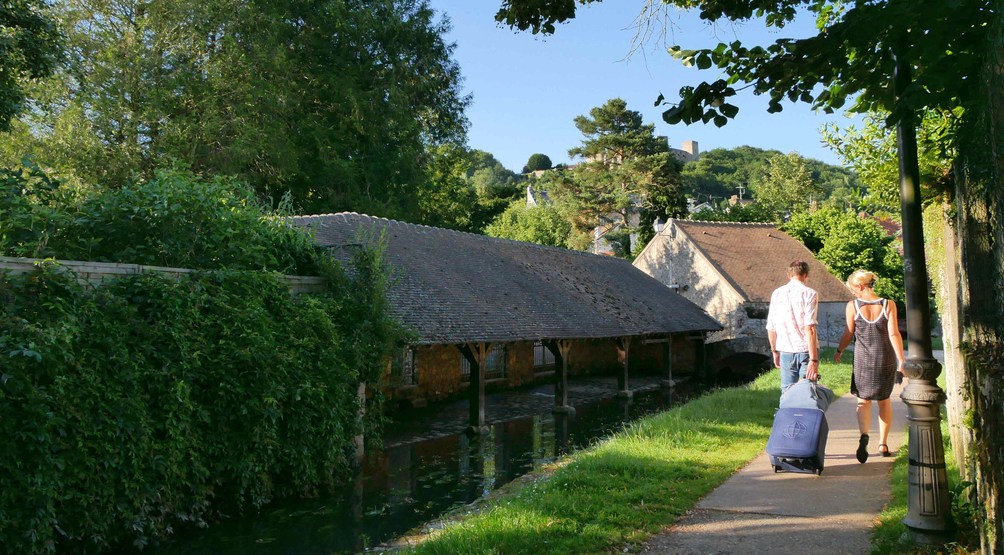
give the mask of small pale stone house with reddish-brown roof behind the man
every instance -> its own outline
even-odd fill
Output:
[[[774,224],[671,219],[634,263],[722,324],[721,332],[708,337],[713,343],[766,341],[770,295],[787,283],[793,260],[809,264],[806,284],[818,294],[819,342],[835,346],[850,292],[805,245]]]

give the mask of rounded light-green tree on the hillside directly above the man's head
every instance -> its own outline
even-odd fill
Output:
[[[757,203],[776,222],[788,219],[797,210],[807,209],[809,199],[821,193],[805,166],[805,159],[796,152],[767,160],[755,185]]]

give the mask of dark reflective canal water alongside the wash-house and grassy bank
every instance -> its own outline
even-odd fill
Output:
[[[546,413],[502,421],[481,437],[457,433],[415,442],[403,442],[399,437],[389,441],[395,446],[367,452],[356,480],[341,492],[275,502],[259,512],[204,530],[179,531],[153,552],[356,553],[434,520],[451,508],[469,504],[534,467],[588,446],[631,420],[665,410],[712,385],[732,384],[682,384],[673,390],[636,393],[630,402],[604,398],[576,405],[573,416]],[[414,420],[392,424],[389,436],[414,427]]]

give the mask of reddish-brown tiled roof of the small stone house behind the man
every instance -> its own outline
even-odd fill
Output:
[[[812,251],[772,223],[674,219],[667,223],[666,229],[670,224],[690,237],[748,302],[769,302],[770,294],[788,282],[788,264],[794,260],[809,264],[805,284],[816,291],[820,303],[850,300],[846,286],[834,278]]]

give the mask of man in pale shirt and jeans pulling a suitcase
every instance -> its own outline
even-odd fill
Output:
[[[774,290],[767,313],[767,337],[774,365],[781,369],[781,394],[799,378],[819,377],[819,339],[816,293],[805,286],[809,265],[795,260],[788,265],[788,283]]]

